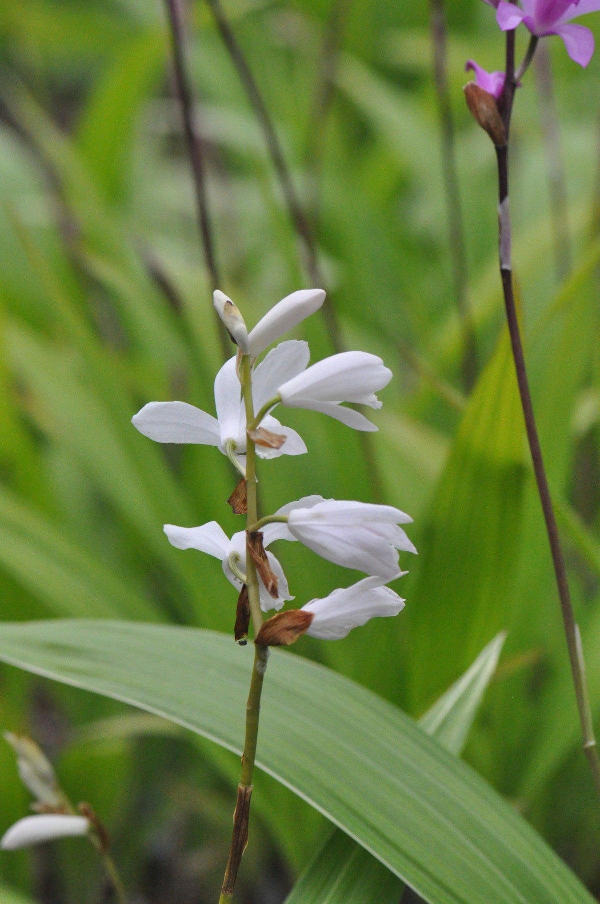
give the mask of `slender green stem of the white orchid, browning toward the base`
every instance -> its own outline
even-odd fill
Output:
[[[248,355],[241,359],[241,385],[246,408],[246,423],[254,424],[254,403],[252,400],[252,371]],[[270,403],[268,403],[270,406]],[[262,418],[259,412],[258,417]],[[246,494],[247,494],[247,527],[248,531],[256,530],[256,525],[265,522],[258,520],[257,500],[257,471],[256,448],[248,437],[246,447]],[[254,635],[258,635],[262,625],[262,613],[260,611],[260,598],[258,594],[257,570],[249,554],[246,553],[246,586],[248,588],[248,602],[252,616]],[[248,818],[250,813],[250,796],[252,795],[252,776],[254,773],[254,760],[257,753],[258,717],[260,714],[260,695],[262,693],[263,679],[267,669],[268,647],[255,646],[254,664],[252,666],[252,678],[246,704],[246,736],[244,739],[244,753],[241,758],[241,776],[238,786],[238,802],[233,814],[233,833],[231,835],[230,856],[225,868],[225,876],[220,892],[219,904],[230,904],[233,898],[233,890],[238,875],[239,863],[248,843]]]

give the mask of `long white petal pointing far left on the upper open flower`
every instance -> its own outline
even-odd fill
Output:
[[[158,443],[219,445],[219,422],[185,401],[150,401],[134,415],[131,423],[145,437]]]

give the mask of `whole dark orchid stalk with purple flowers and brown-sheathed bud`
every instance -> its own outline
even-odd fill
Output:
[[[558,533],[558,524],[550,496],[548,477],[539,443],[538,428],[536,425],[533,402],[531,400],[530,385],[525,366],[523,344],[520,336],[520,325],[514,299],[512,284],[512,260],[511,260],[511,208],[509,201],[509,141],[511,130],[512,106],[515,91],[520,85],[520,79],[527,71],[540,38],[551,34],[562,37],[567,47],[567,53],[572,60],[582,66],[586,66],[594,51],[594,38],[591,32],[582,25],[569,24],[576,15],[600,10],[600,0],[521,0],[522,8],[513,3],[505,3],[503,0],[485,0],[491,6],[496,7],[496,17],[502,31],[506,33],[506,64],[502,91],[491,90],[494,85],[500,87],[500,80],[496,79],[494,85],[489,81],[484,93],[492,101],[499,118],[502,119],[503,141],[494,141],[498,164],[498,222],[499,222],[499,250],[500,250],[500,276],[502,280],[502,293],[504,306],[511,336],[512,356],[515,363],[517,382],[519,385],[521,407],[525,419],[525,427],[530,447],[530,455],[533,470],[538,486],[539,499],[546,523],[548,543],[552,555],[555,577],[558,587],[558,598],[563,618],[563,626],[567,639],[567,650],[571,666],[571,674],[577,699],[577,711],[583,737],[583,749],[588,760],[595,788],[600,795],[600,756],[594,737],[592,716],[589,706],[589,694],[586,683],[586,667],[581,647],[581,637],[575,621],[573,604],[568,588],[567,568],[562,544]],[[530,31],[530,43],[525,57],[519,67],[515,67],[515,29],[522,23]],[[470,65],[471,64],[471,65]],[[473,61],[467,63],[473,68],[477,80],[481,85],[482,72]],[[492,76],[498,73],[492,73]],[[491,79],[488,73],[483,76]],[[496,103],[497,100],[497,103]],[[469,96],[467,94],[467,102]],[[471,107],[471,104],[469,103]],[[478,116],[478,110],[472,108],[473,115],[485,127]],[[490,129],[486,128],[493,139]]]

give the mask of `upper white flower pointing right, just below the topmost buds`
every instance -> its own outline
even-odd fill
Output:
[[[277,389],[286,408],[321,411],[355,430],[377,430],[359,411],[343,408],[342,401],[381,408],[375,392],[387,386],[392,372],[380,358],[367,352],[342,352],[324,358],[296,374]]]

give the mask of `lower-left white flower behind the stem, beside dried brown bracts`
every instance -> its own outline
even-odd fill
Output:
[[[272,525],[267,525],[271,527]],[[244,581],[239,575],[246,573],[246,532],[234,533],[231,539],[223,531],[216,521],[202,524],[200,527],[176,527],[174,524],[165,524],[164,532],[169,542],[178,550],[199,550],[206,552],[215,559],[220,559],[225,577],[235,588],[241,590]],[[272,532],[271,532],[272,533]],[[263,545],[267,548],[269,542],[275,540],[275,536],[269,536],[267,529],[263,532]],[[286,575],[281,565],[272,552],[267,552],[267,559],[271,570],[277,578],[279,596],[271,597],[260,576],[258,576],[258,590],[260,594],[260,607],[263,612],[269,609],[280,609],[286,599],[294,599],[290,596],[287,587]]]

